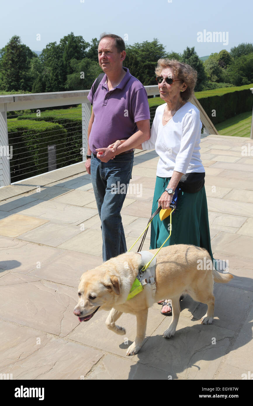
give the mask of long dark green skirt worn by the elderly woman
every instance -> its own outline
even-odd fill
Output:
[[[152,214],[158,209],[158,199],[167,188],[170,177],[156,177],[156,186]],[[169,235],[170,217],[160,220],[157,214],[151,222],[150,249],[160,248]],[[208,206],[205,186],[196,193],[180,192],[177,198],[177,209],[171,216],[171,237],[164,246],[173,244],[192,244],[205,248],[213,261]]]

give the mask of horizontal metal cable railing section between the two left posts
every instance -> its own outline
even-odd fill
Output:
[[[57,109],[46,110],[39,117],[33,117],[34,112],[13,115],[15,119],[7,118],[11,182],[82,162],[81,106],[59,114]]]

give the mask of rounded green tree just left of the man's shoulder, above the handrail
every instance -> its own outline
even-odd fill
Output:
[[[71,59],[70,66],[73,73],[67,75],[65,90],[91,89],[95,78],[102,73],[99,63],[89,58]]]

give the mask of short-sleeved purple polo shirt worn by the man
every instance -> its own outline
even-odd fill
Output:
[[[128,68],[120,84],[108,89],[107,76],[99,83],[95,95],[94,83],[88,95],[93,104],[94,121],[89,135],[89,146],[93,153],[96,148],[107,148],[116,140],[127,140],[136,131],[136,123],[149,120],[147,92],[141,82],[131,75]]]

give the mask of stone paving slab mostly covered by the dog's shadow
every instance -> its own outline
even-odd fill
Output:
[[[165,339],[162,335],[169,323],[170,317],[164,317],[138,354],[132,357],[133,361],[162,369],[172,379],[180,376],[183,379],[212,379],[234,332],[215,324],[189,322],[180,315],[174,337]]]

